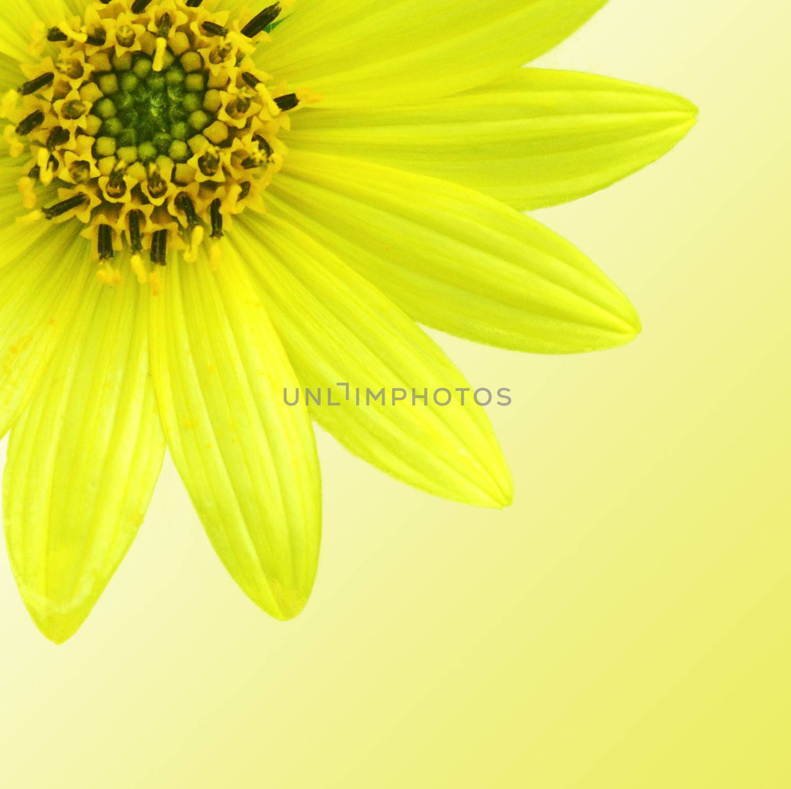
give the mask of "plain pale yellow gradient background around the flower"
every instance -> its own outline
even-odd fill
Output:
[[[517,500],[406,489],[320,436],[312,602],[225,576],[168,465],[85,628],[36,632],[0,563],[0,785],[791,785],[785,0],[612,0],[544,59],[674,89],[666,160],[541,213],[642,338],[542,358],[441,342],[493,409]],[[0,453],[2,454],[2,453]]]

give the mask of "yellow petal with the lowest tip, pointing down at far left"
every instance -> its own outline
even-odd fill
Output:
[[[87,266],[86,266],[87,267]],[[47,638],[72,636],[131,545],[165,454],[148,376],[146,290],[94,278],[11,431],[9,557]]]

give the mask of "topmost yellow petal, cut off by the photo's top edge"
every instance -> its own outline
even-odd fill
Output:
[[[260,48],[326,107],[418,104],[482,85],[570,36],[605,0],[300,0]]]

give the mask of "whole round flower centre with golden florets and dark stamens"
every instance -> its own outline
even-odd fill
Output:
[[[24,221],[86,225],[108,282],[119,253],[140,281],[203,243],[216,262],[212,240],[263,210],[286,153],[278,131],[307,98],[268,88],[252,59],[280,10],[241,25],[202,0],[96,0],[78,24],[44,31],[34,46],[54,51],[0,108],[9,153],[29,159],[25,206],[44,206]]]

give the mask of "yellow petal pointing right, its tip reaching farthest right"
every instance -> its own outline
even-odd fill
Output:
[[[286,142],[445,178],[518,210],[574,200],[667,153],[693,104],[632,82],[519,69],[414,107],[301,112]]]

